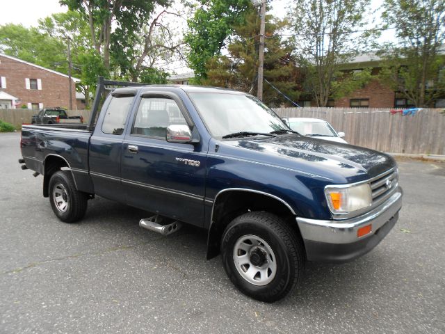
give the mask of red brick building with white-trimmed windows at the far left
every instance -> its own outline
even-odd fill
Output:
[[[76,108],[76,82],[72,78],[72,106]],[[0,54],[0,108],[42,109],[70,106],[66,74]]]

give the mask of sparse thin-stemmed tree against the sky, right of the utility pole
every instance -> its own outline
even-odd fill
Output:
[[[305,85],[318,106],[326,106],[333,95],[340,97],[343,85],[359,87],[362,76],[344,75],[341,64],[357,54],[364,43],[354,31],[364,26],[364,13],[370,0],[297,0],[291,9],[291,22]],[[364,72],[366,74],[366,72]],[[367,76],[364,75],[364,78]],[[337,91],[334,91],[337,90]]]

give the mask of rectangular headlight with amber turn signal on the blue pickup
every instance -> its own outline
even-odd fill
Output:
[[[372,205],[371,186],[327,186],[327,205],[333,214],[346,214]]]

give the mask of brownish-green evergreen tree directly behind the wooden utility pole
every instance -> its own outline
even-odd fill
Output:
[[[247,93],[257,90],[259,24],[256,10],[245,13],[243,24],[234,26],[233,41],[227,46],[229,55],[215,56],[207,62],[207,79],[203,79],[202,84]],[[293,49],[279,35],[286,24],[286,21],[274,20],[271,15],[266,15],[264,78],[291,100],[298,100],[299,73],[295,57],[291,56]],[[289,102],[270,84],[264,84],[264,103],[280,105]]]

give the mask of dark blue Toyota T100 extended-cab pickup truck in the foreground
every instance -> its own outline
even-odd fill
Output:
[[[277,301],[305,262],[346,262],[374,248],[402,207],[389,155],[301,136],[257,98],[197,86],[120,87],[88,125],[24,125],[23,169],[66,223],[97,196],[152,214],[140,226],[208,230],[241,292]],[[99,92],[98,88],[98,92]]]

